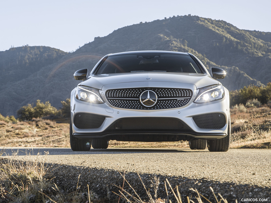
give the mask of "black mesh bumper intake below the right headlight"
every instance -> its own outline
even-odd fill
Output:
[[[193,120],[199,128],[204,129],[221,129],[226,125],[226,117],[222,113],[194,116]]]

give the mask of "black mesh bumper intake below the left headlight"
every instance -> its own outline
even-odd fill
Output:
[[[105,117],[89,114],[78,113],[74,116],[74,125],[79,129],[99,128],[104,122]]]

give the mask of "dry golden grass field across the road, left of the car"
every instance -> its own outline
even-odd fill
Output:
[[[70,147],[69,124],[43,119],[5,123],[0,125],[0,142],[15,147]]]

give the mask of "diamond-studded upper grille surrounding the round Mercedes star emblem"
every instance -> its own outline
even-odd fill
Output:
[[[146,90],[156,93],[157,102],[154,106],[144,106],[140,102],[140,95]],[[193,92],[190,89],[146,87],[107,90],[105,96],[112,106],[118,108],[155,110],[185,106],[191,100]]]

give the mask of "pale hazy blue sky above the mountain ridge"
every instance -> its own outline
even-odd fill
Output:
[[[270,0],[0,0],[0,51],[27,44],[75,51],[118,28],[173,15],[271,32],[270,8]]]

